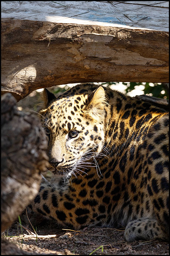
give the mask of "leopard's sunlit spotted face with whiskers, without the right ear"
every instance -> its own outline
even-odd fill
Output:
[[[96,111],[88,103],[87,95],[76,95],[58,99],[40,112],[48,136],[49,170],[55,174],[81,172],[102,149],[104,110]]]

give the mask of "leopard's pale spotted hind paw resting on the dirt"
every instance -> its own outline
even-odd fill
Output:
[[[152,239],[166,240],[166,236],[156,219],[140,218],[128,223],[125,228],[125,239],[127,242]]]

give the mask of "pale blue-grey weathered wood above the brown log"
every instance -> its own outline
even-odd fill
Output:
[[[168,1],[2,1],[3,18],[168,31]],[[156,31],[155,31],[156,33]]]

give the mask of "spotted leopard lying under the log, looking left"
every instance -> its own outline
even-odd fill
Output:
[[[127,242],[168,241],[168,111],[95,83],[56,97],[40,119],[53,173],[29,205],[78,230],[124,227]]]

